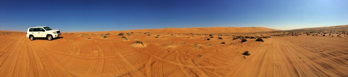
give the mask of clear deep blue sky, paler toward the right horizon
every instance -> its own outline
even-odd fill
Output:
[[[0,0],[0,30],[188,27],[297,29],[348,24],[348,0]]]

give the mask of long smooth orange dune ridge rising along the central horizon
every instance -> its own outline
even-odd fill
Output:
[[[253,33],[253,32],[272,32],[279,31],[266,27],[195,27],[195,28],[163,28],[163,29],[135,29],[132,32],[152,32],[152,33]],[[120,32],[129,32],[120,31]]]

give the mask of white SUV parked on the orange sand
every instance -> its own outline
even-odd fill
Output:
[[[53,38],[59,37],[61,35],[61,31],[53,30],[47,26],[38,26],[28,28],[26,32],[26,37],[29,39],[35,40],[35,37],[45,37],[47,40],[53,40]]]

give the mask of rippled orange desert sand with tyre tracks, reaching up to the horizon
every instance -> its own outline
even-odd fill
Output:
[[[26,33],[0,35],[0,75],[347,77],[346,32],[315,30],[213,27],[62,31],[53,41],[30,41]],[[256,41],[258,38],[264,42]],[[244,51],[250,55],[243,55]]]

